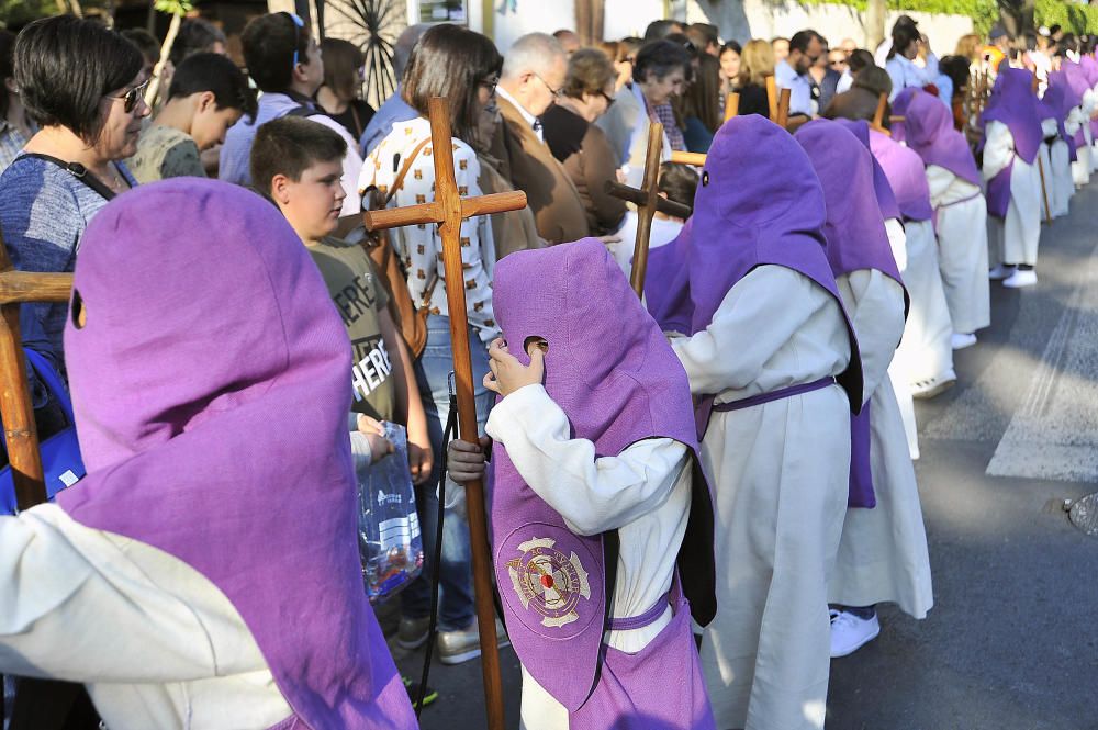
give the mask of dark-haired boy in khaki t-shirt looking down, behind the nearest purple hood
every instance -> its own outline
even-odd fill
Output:
[[[255,114],[256,94],[236,64],[220,54],[190,56],[176,69],[156,121],[142,132],[130,170],[138,182],[204,178],[199,153],[222,144],[231,126]]]

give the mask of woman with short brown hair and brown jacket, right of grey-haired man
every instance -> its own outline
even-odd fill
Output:
[[[594,122],[614,103],[614,64],[595,48],[581,48],[568,60],[563,93],[542,115],[546,144],[583,201],[591,235],[614,233],[625,216],[625,201],[608,195],[617,179],[617,156]]]

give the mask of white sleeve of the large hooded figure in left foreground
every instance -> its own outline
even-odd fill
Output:
[[[260,670],[233,605],[182,561],[52,504],[0,517],[0,672],[152,684]]]

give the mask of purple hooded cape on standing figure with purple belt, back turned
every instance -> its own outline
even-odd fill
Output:
[[[750,184],[748,184],[750,182]],[[729,290],[755,267],[784,266],[827,290],[850,334],[850,366],[837,378],[860,411],[862,361],[824,249],[824,191],[792,136],[757,114],[717,131],[694,196],[688,272],[691,333],[705,329]]]

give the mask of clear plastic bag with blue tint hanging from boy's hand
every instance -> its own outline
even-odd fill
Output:
[[[358,472],[358,549],[370,603],[396,595],[423,571],[407,436],[396,424],[384,427],[394,452]]]

